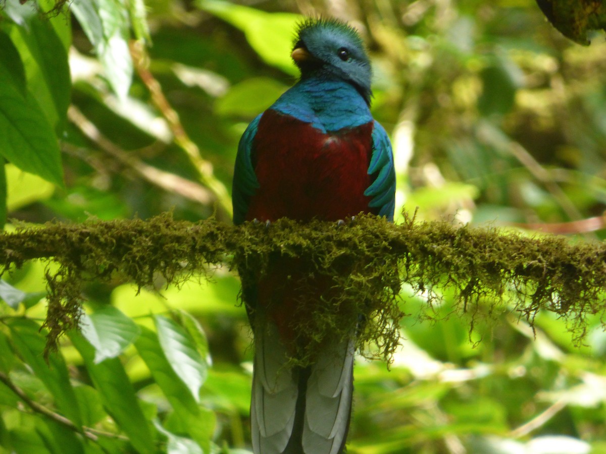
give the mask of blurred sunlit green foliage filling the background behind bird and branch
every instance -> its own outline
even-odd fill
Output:
[[[295,81],[302,14],[361,28],[373,114],[393,141],[398,206],[418,219],[602,240],[606,44],[574,44],[531,0],[18,0],[0,12],[5,231],[50,219],[230,219],[239,136]],[[401,220],[402,217],[399,217]],[[250,447],[250,332],[238,278],[86,289],[81,332],[45,362],[44,274],[0,283],[0,452]],[[359,360],[351,453],[606,452],[606,335],[579,343],[402,293],[390,366]],[[490,301],[486,302],[490,304]],[[420,317],[419,317],[420,315]]]

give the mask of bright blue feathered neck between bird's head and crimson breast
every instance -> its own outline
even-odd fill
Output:
[[[353,85],[319,77],[297,82],[271,109],[322,131],[355,128],[372,120],[368,104]]]

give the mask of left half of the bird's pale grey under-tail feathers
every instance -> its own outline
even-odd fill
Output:
[[[281,454],[293,432],[298,383],[285,367],[287,361],[276,326],[267,323],[258,329],[250,412],[255,452]]]

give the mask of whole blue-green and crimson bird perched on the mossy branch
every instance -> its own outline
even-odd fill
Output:
[[[238,144],[233,222],[342,223],[360,212],[393,221],[393,153],[371,115],[371,64],[358,31],[339,19],[305,18],[291,58],[298,81],[252,120]],[[306,323],[338,289],[303,260],[279,254],[262,274],[242,271],[241,281],[255,352],[253,452],[344,452],[355,332],[321,341],[309,364],[289,360],[305,342],[296,324]]]

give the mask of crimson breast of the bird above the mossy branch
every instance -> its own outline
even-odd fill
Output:
[[[322,133],[268,110],[253,142],[259,189],[247,220],[338,220],[368,208],[373,123]]]

